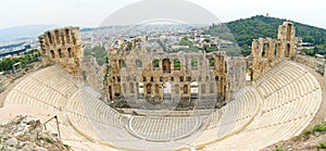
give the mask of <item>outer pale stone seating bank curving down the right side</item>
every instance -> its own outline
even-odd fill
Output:
[[[311,123],[322,102],[316,78],[286,61],[254,81],[253,86],[263,96],[262,106],[253,122],[237,135],[210,143],[203,150],[259,150],[290,139]]]

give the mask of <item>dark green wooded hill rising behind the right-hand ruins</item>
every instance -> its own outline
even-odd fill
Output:
[[[251,46],[252,39],[258,39],[259,37],[276,38],[278,26],[285,21],[289,20],[256,15],[249,18],[228,22],[223,25],[213,25],[204,33],[231,40],[229,34],[221,32],[225,30],[224,25],[226,25],[238,45],[246,47]],[[313,42],[315,45],[326,43],[326,29],[298,22],[292,23],[296,27],[297,37],[302,37],[303,41]]]

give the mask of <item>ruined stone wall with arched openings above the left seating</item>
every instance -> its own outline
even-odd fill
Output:
[[[48,30],[39,36],[42,64],[60,64],[67,72],[79,75],[83,43],[79,27]]]

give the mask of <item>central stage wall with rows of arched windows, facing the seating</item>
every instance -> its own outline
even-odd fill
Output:
[[[217,96],[215,105],[222,106],[228,99],[226,61],[225,52],[208,54],[148,53],[143,50],[110,52],[105,72],[108,101],[130,97],[134,99],[128,100],[153,97],[190,100],[198,99],[199,96],[215,95]]]

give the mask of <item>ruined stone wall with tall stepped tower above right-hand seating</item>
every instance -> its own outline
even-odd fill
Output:
[[[301,41],[300,38],[296,37],[294,26],[290,22],[284,22],[283,25],[279,25],[276,39],[253,39],[251,56],[248,61],[250,64],[248,73],[251,79],[259,78],[281,60],[293,60]]]

